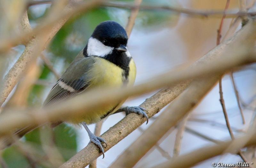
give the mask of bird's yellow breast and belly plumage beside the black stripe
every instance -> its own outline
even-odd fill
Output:
[[[90,85],[87,89],[90,88],[121,88],[126,83],[128,86],[132,86],[136,77],[136,66],[131,59],[129,64],[129,75],[128,82],[125,82],[124,70],[119,66],[109,62],[108,60],[101,57],[94,57],[95,63],[92,65],[92,68],[88,71],[86,76],[90,76]],[[125,84],[125,85],[126,85]],[[116,102],[115,104],[108,104],[104,108],[97,111],[88,111],[86,116],[81,116],[76,118],[73,122],[86,122],[87,124],[98,122],[102,116],[114,113],[117,109],[121,107],[125,100],[122,102]],[[71,121],[72,122],[72,121]]]

